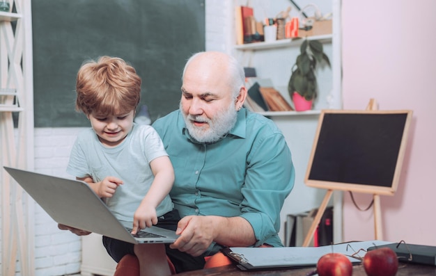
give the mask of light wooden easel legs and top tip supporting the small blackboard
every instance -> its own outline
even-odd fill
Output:
[[[366,106],[367,111],[376,111],[377,103],[375,99],[370,99],[368,106]],[[320,207],[318,208],[318,212],[316,213],[315,218],[313,218],[313,222],[311,227],[309,228],[309,232],[306,234],[306,238],[304,238],[303,246],[309,246],[313,235],[316,232],[316,228],[320,224],[322,215],[324,215],[325,209],[327,208],[327,204],[329,203],[330,197],[332,197],[333,189],[327,190],[327,193],[324,196],[324,200],[322,200]],[[380,207],[380,195],[377,193],[373,194],[373,211],[374,211],[374,232],[375,239],[382,240],[382,213]]]

